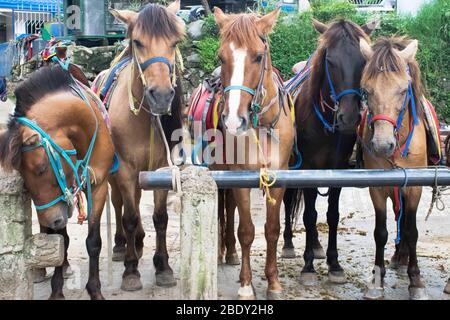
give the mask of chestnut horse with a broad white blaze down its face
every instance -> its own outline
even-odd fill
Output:
[[[272,181],[268,177],[271,176],[269,167],[288,168],[294,142],[291,111],[282,83],[274,74],[267,40],[279,13],[277,9],[258,17],[253,13],[228,15],[219,8],[214,10],[221,33],[218,54],[223,87],[221,132],[227,137],[224,140],[227,161],[210,167],[213,170],[261,170],[261,179],[266,187]],[[249,143],[239,145],[240,139]],[[262,147],[261,141],[264,141]],[[233,159],[228,161],[230,153]],[[255,154],[257,159],[253,162],[250,159]],[[271,155],[270,159],[266,154]],[[235,161],[234,155],[243,161]],[[282,295],[282,286],[278,279],[276,250],[284,189],[267,187],[265,191],[267,298],[278,299]],[[242,249],[238,296],[240,299],[255,299],[250,266],[250,248],[255,236],[250,213],[250,189],[234,188],[230,194],[239,211],[238,238]]]

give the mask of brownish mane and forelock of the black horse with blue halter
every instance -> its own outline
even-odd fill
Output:
[[[311,57],[311,74],[304,84],[301,96],[302,108],[297,108],[299,121],[305,121],[311,111],[314,101],[318,101],[320,89],[323,85],[325,74],[325,53],[328,48],[333,48],[337,43],[347,39],[351,45],[359,48],[359,39],[364,38],[370,43],[369,36],[356,23],[339,19],[328,25],[328,29],[319,37],[318,48]],[[300,100],[300,99],[299,99]]]

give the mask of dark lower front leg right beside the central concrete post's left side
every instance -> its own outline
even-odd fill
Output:
[[[166,245],[167,221],[167,191],[154,191],[155,211],[153,212],[153,224],[156,229],[156,251],[153,256],[153,264],[156,272],[156,285],[160,287],[173,287],[177,281],[169,266],[169,254]]]

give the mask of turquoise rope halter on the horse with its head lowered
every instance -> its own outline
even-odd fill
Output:
[[[84,93],[79,90],[78,88],[72,87],[73,90],[76,91],[76,93],[84,100],[84,102],[92,109],[92,106],[87,99],[87,97],[84,95]],[[94,114],[95,116],[95,114]],[[98,132],[98,120],[97,117],[95,117],[95,131],[92,135],[91,142],[89,143],[88,150],[86,152],[86,155],[84,156],[83,160],[76,160],[75,162],[72,161],[71,157],[76,157],[77,151],[76,150],[64,150],[60,146],[56,144],[39,125],[25,117],[19,117],[17,118],[17,121],[29,127],[30,129],[37,131],[40,135],[40,141],[39,143],[32,145],[32,146],[23,146],[22,152],[30,152],[38,148],[44,148],[45,153],[47,154],[50,164],[53,169],[53,173],[55,174],[56,181],[58,182],[59,188],[61,189],[61,195],[54,199],[53,201],[50,201],[47,204],[44,205],[36,205],[36,210],[45,210],[48,209],[55,204],[59,202],[66,202],[69,207],[74,207],[75,204],[75,197],[77,194],[83,190],[85,187],[87,189],[87,200],[88,200],[88,219],[90,217],[91,211],[92,211],[92,192],[91,192],[91,178],[90,178],[90,170],[92,170],[89,167],[89,162],[91,160],[92,151],[94,149],[95,140],[97,139],[97,132]],[[63,158],[70,166],[70,168],[73,171],[73,174],[75,176],[75,183],[73,187],[69,187],[66,183],[66,174],[64,173],[64,169],[62,166],[61,158]]]

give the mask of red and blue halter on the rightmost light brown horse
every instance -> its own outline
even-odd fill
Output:
[[[410,76],[409,66],[406,67],[406,73]],[[408,138],[406,139],[405,144],[402,146],[401,150],[401,156],[405,157],[408,154],[409,145],[411,144],[412,137],[414,135],[414,127],[419,124],[419,119],[417,117],[417,109],[416,109],[416,102],[414,99],[414,91],[412,88],[411,80],[408,81],[408,90],[406,92],[405,100],[403,101],[402,109],[400,111],[400,114],[397,118],[397,120],[392,119],[391,117],[384,115],[384,114],[377,114],[375,116],[372,116],[372,114],[369,111],[368,114],[368,123],[369,127],[373,125],[376,121],[387,121],[394,127],[394,133],[397,139],[397,144],[399,140],[399,131],[402,126],[403,118],[405,117],[406,111],[408,109],[408,101],[411,101],[411,113],[412,113],[412,125],[411,129],[408,134]]]

